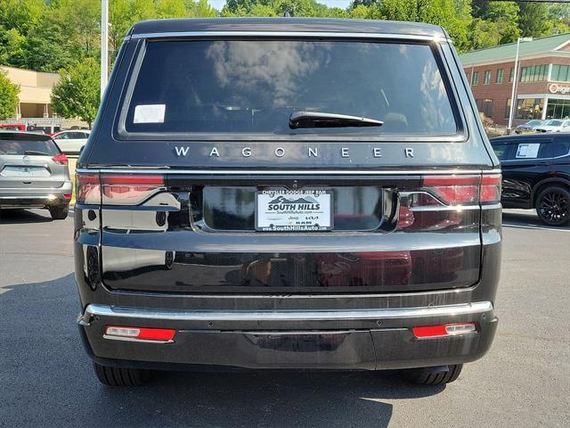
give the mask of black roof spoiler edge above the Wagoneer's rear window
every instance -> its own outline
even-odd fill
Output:
[[[442,27],[402,21],[340,20],[322,18],[214,18],[152,20],[134,24],[129,36],[189,31],[306,31],[384,33],[447,38]]]

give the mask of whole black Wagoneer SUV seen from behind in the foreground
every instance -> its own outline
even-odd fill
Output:
[[[144,21],[78,161],[79,330],[107,385],[489,350],[501,173],[444,29]]]

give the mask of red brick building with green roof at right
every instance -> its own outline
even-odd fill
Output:
[[[513,84],[513,124],[530,119],[570,118],[570,33],[521,42],[515,82],[517,44],[460,55],[477,109],[500,125],[509,124]]]

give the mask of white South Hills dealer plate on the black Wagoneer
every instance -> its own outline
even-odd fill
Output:
[[[256,192],[256,230],[319,232],[333,228],[332,192],[269,189]]]

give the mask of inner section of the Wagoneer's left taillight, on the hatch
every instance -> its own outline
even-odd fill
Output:
[[[101,176],[102,203],[136,205],[165,188],[161,175],[103,174]]]

